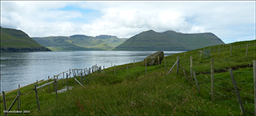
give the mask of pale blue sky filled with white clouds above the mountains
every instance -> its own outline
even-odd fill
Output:
[[[173,30],[213,32],[224,43],[255,39],[255,1],[1,1],[1,26],[30,37]]]

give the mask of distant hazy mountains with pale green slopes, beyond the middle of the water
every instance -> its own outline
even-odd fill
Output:
[[[62,50],[110,50],[114,49],[126,39],[119,39],[116,36],[48,36],[48,37],[33,37],[33,39],[43,46],[54,51]]]

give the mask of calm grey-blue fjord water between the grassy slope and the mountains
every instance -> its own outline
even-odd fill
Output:
[[[1,91],[46,80],[69,69],[85,69],[97,63],[111,67],[144,60],[155,51],[68,51],[1,53]],[[180,51],[164,51],[169,56]]]

